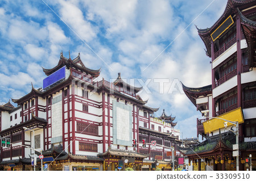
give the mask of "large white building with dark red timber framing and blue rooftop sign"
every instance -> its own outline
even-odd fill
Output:
[[[142,87],[127,84],[120,73],[114,82],[94,81],[101,70],[86,68],[80,54],[72,60],[61,53],[59,63],[43,71],[48,77],[42,88],[32,85],[27,95],[13,99],[18,107],[0,106],[0,136],[11,138],[10,148],[1,147],[3,169],[31,170],[34,151],[25,146],[43,150],[48,170],[118,170],[122,164],[150,170],[156,161],[170,169],[166,151],[179,144],[179,130],[174,117],[151,116],[158,108],[146,106],[137,95]]]

